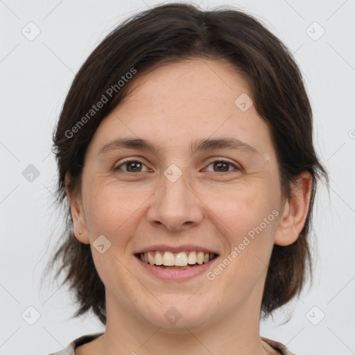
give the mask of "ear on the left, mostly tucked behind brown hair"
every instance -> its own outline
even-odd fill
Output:
[[[78,196],[74,195],[69,190],[69,183],[70,183],[69,173],[65,174],[64,183],[65,183],[65,191],[67,192],[67,198],[70,203],[71,218],[73,218],[74,235],[76,236],[76,239],[78,239],[78,241],[80,241],[81,243],[89,244],[90,240],[89,240],[89,235],[86,227],[85,215],[83,213],[81,200]]]

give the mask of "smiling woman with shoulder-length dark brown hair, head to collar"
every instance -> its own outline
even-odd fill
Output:
[[[55,354],[292,354],[259,321],[302,290],[327,172],[300,71],[259,21],[178,3],[125,21],[53,141],[70,203],[53,261],[105,324]]]

